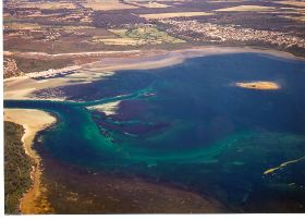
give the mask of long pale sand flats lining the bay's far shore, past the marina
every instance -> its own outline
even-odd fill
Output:
[[[276,50],[264,50],[254,48],[234,48],[234,47],[197,47],[191,49],[181,49],[174,51],[151,50],[151,51],[132,51],[133,56],[129,58],[102,58],[100,61],[83,64],[76,73],[58,78],[36,81],[27,76],[13,77],[4,80],[4,99],[38,99],[32,93],[39,89],[52,88],[63,85],[90,83],[102,80],[109,74],[114,74],[119,70],[149,70],[166,68],[182,63],[185,59],[194,57],[205,57],[213,54],[227,54],[239,52],[256,52],[266,56],[273,56],[279,59],[304,60],[288,52]],[[98,53],[98,52],[97,52]],[[89,53],[88,53],[89,54]],[[121,53],[119,53],[121,54]],[[122,53],[125,54],[125,52]],[[34,56],[30,53],[30,56]],[[48,54],[37,54],[48,56]],[[58,56],[61,54],[51,54]],[[69,56],[64,53],[64,56]],[[72,53],[71,56],[75,56]],[[48,98],[46,98],[48,99]],[[54,99],[50,100],[64,100]]]

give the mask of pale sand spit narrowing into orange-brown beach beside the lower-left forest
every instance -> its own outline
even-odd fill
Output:
[[[22,137],[22,142],[24,143],[25,152],[35,161],[35,167],[33,167],[33,171],[30,173],[30,176],[33,179],[33,186],[21,200],[21,212],[39,213],[47,210],[51,211],[51,208],[46,199],[40,198],[39,204],[37,203],[37,198],[41,195],[44,188],[40,183],[40,157],[32,148],[32,145],[37,132],[54,123],[56,118],[41,110],[4,109],[4,121],[10,121],[23,125],[25,133]]]

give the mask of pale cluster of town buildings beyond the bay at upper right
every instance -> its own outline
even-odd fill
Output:
[[[174,34],[187,35],[193,34],[194,40],[208,39],[213,42],[225,41],[260,41],[265,44],[305,48],[305,39],[290,36],[280,32],[259,30],[253,28],[242,28],[237,25],[218,25],[211,23],[199,23],[198,21],[174,21],[161,20],[163,24],[172,27]]]

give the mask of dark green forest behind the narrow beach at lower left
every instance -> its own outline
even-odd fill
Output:
[[[30,168],[33,160],[25,154],[23,127],[4,122],[4,208],[5,213],[19,213],[22,195],[30,187]]]

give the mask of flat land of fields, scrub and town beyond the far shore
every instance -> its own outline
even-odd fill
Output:
[[[68,53],[178,49],[216,44],[277,48],[297,56],[302,56],[305,50],[301,47],[305,36],[303,1],[58,1],[58,5],[71,3],[73,7],[70,8],[75,9],[51,9],[53,1],[41,2],[44,4],[40,8],[23,8],[33,4],[28,0],[4,3],[4,50]],[[164,20],[180,23],[171,25]],[[198,33],[203,29],[197,28],[197,25],[188,25],[191,20],[198,26],[207,26],[204,37]],[[188,25],[187,28],[184,24]],[[175,44],[170,37],[164,39],[150,33],[147,37],[143,34],[120,36],[111,32],[149,25],[168,36],[184,40],[184,44]]]

